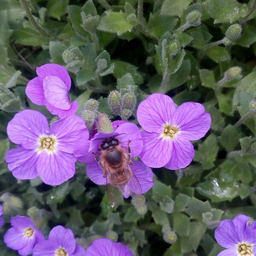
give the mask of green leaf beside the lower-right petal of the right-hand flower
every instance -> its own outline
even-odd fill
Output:
[[[214,134],[211,134],[202,144],[198,145],[198,150],[195,151],[194,161],[201,163],[204,170],[208,170],[214,167],[217,154],[217,138]]]

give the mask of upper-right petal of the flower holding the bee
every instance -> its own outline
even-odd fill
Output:
[[[121,141],[121,145],[123,148],[127,150],[128,142],[131,149],[131,156],[136,157],[143,148],[143,141],[141,136],[141,131],[137,127],[137,125],[133,123],[123,123],[119,125],[115,132],[118,132],[119,135],[117,138]]]

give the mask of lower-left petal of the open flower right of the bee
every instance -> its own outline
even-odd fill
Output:
[[[161,138],[157,133],[141,132],[143,149],[139,155],[145,165],[153,168],[163,167],[172,155],[172,140]]]

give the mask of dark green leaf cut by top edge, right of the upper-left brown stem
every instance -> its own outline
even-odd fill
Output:
[[[67,13],[67,5],[69,0],[48,0],[47,1],[47,11],[52,17],[57,20],[61,20],[61,16]]]

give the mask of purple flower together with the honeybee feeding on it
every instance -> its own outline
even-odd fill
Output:
[[[125,198],[132,193],[143,194],[151,189],[154,181],[151,168],[141,161],[132,161],[143,148],[140,129],[128,122],[119,122],[113,127],[116,127],[114,132],[99,132],[87,147],[78,148],[77,160],[87,163],[87,176],[94,183],[117,186]],[[120,146],[118,151],[114,150],[116,146]],[[113,175],[110,163],[115,166]],[[126,169],[127,173],[117,173]]]

